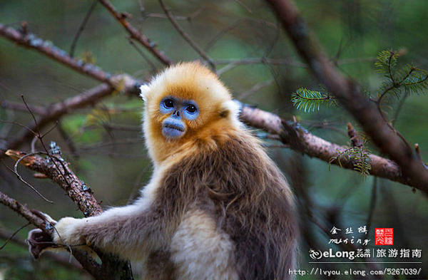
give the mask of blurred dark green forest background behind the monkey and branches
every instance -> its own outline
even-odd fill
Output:
[[[374,72],[374,59],[384,49],[401,49],[406,54],[399,63],[414,63],[419,68],[428,69],[428,1],[296,2],[331,60],[345,76],[357,80],[367,94],[376,95],[382,82],[382,77]],[[93,3],[1,0],[0,22],[19,28],[21,22],[26,21],[29,31],[70,52],[73,38]],[[173,28],[158,1],[116,0],[112,4],[118,11],[128,13],[128,21],[156,42],[158,49],[173,61],[200,58]],[[285,119],[294,115],[313,134],[339,145],[349,145],[347,122],[360,131],[357,123],[341,108],[324,107],[312,113],[293,108],[290,95],[297,88],[320,89],[322,86],[308,73],[265,1],[165,0],[165,5],[180,27],[213,59],[221,80],[238,100]],[[138,43],[130,43],[128,33],[99,3],[95,4],[73,54],[83,61],[95,63],[104,71],[128,73],[143,81],[163,68],[146,49]],[[98,84],[98,81],[40,53],[0,37],[2,101],[22,103],[21,95],[24,95],[30,105],[47,106]],[[384,110],[410,144],[419,143],[422,159],[427,161],[426,92],[404,96],[402,93],[388,98]],[[92,107],[64,116],[44,138],[46,143],[58,143],[63,157],[71,162],[72,169],[91,187],[103,207],[131,202],[138,196],[138,189],[151,177],[151,162],[140,129],[142,106],[138,98],[116,93]],[[0,108],[0,119],[22,124],[32,121],[28,112],[6,108]],[[0,140],[11,140],[22,129],[19,125],[0,122]],[[347,250],[329,244],[332,237],[328,231],[333,226],[344,231],[352,227],[356,232],[355,239],[371,239],[367,247],[357,247],[369,249],[379,248],[374,246],[374,227],[392,227],[394,246],[382,248],[422,249],[422,258],[417,261],[427,263],[424,250],[428,249],[428,204],[427,197],[421,192],[412,192],[412,188],[389,180],[362,177],[358,172],[329,167],[327,162],[279,147],[278,142],[264,141],[297,196],[302,224],[301,269],[368,269],[367,264],[309,264],[310,249]],[[367,147],[379,155],[370,142]],[[30,142],[24,143],[20,150],[29,151]],[[20,174],[54,204],[35,195],[5,167],[12,167],[12,160],[3,157],[1,161],[1,192],[30,208],[51,214],[55,219],[82,217],[76,205],[50,180],[35,179],[34,172],[19,167]],[[0,204],[0,229],[3,232],[0,246],[5,236],[24,224],[24,219]],[[357,228],[362,226],[370,228],[367,236],[357,233]],[[17,234],[19,239],[24,240],[29,229],[31,226],[21,230]],[[375,267],[419,269],[422,264],[375,264]],[[0,250],[0,279],[91,279],[85,272],[70,266],[67,261],[64,263],[50,256],[33,261],[19,242],[10,242]],[[419,276],[385,276],[383,279],[427,277],[425,266]],[[327,277],[297,276],[297,279]]]

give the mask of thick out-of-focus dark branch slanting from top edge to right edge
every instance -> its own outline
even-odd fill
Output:
[[[404,182],[428,192],[428,170],[419,162],[394,130],[382,119],[369,99],[362,95],[357,83],[340,74],[322,51],[315,36],[291,0],[267,0],[282,21],[298,53],[310,66],[312,73],[323,83],[362,125],[373,142],[401,167]]]

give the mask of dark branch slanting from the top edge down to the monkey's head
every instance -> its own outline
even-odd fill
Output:
[[[123,28],[128,31],[128,33],[131,35],[131,38],[135,39],[136,41],[140,42],[143,46],[145,46],[148,51],[150,51],[153,56],[156,56],[159,61],[161,61],[164,65],[171,65],[173,64],[173,61],[168,58],[168,56],[165,56],[165,53],[163,51],[159,51],[156,48],[156,44],[152,43],[146,36],[140,33],[137,28],[133,27],[127,20],[127,14],[118,12],[115,7],[108,1],[108,0],[99,0],[103,6],[106,7],[106,9],[110,12],[112,16],[115,17],[115,19],[123,26]]]

